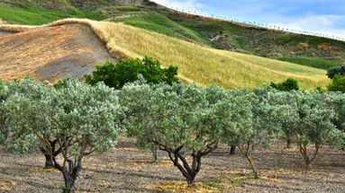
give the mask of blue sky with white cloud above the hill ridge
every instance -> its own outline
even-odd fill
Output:
[[[153,0],[178,9],[345,38],[345,0]]]

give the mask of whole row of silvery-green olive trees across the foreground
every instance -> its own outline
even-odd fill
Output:
[[[221,142],[237,146],[258,178],[252,147],[268,148],[286,138],[309,170],[323,145],[344,143],[339,128],[345,94],[152,84],[142,76],[121,90],[74,79],[51,84],[27,78],[0,83],[0,121],[1,142],[17,153],[40,149],[46,166],[62,173],[64,192],[73,191],[83,158],[112,149],[122,133],[135,137],[141,149],[166,152],[194,185],[202,157]]]

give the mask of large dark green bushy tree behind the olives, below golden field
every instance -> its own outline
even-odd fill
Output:
[[[125,83],[136,81],[140,74],[148,83],[178,83],[177,66],[161,68],[159,60],[150,57],[120,60],[116,65],[106,62],[95,68],[92,75],[85,75],[86,83],[104,82],[109,87],[121,89]]]

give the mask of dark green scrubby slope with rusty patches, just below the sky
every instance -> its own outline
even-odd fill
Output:
[[[287,59],[304,66],[311,66],[310,62],[313,61],[312,66],[323,69],[345,62],[345,42],[343,41],[254,28],[236,22],[172,12],[155,6],[145,8],[186,27],[189,31],[195,31],[203,40],[193,40],[200,43],[207,42],[206,45],[211,45],[213,48],[261,57],[284,58],[282,60]],[[305,60],[300,59],[302,57]]]

